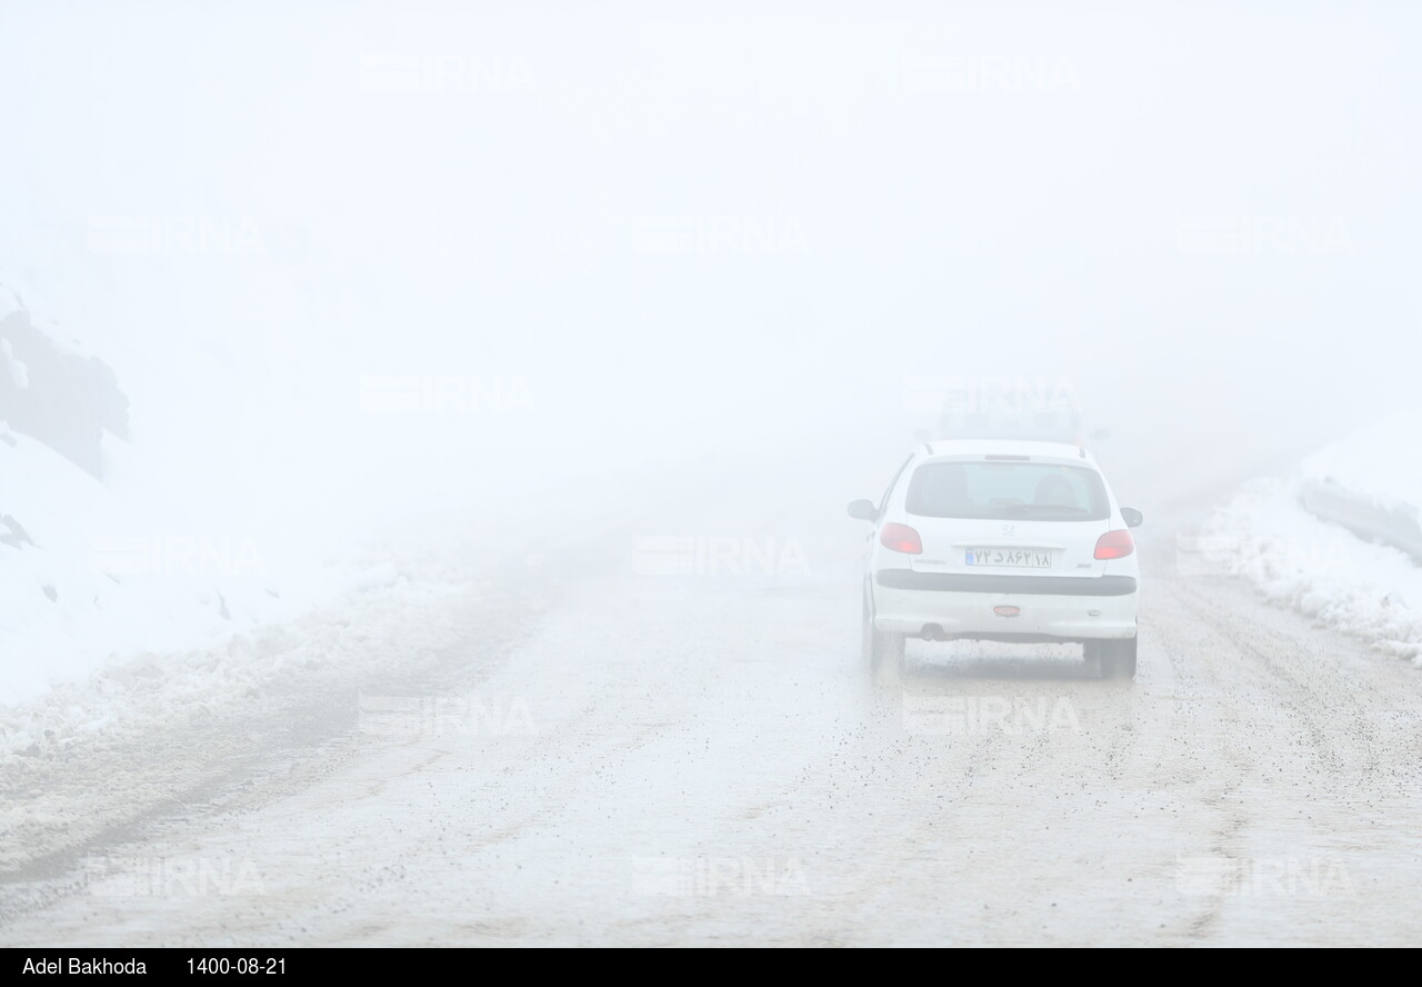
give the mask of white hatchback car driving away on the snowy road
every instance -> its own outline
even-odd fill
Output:
[[[863,589],[865,656],[903,667],[904,640],[1081,641],[1106,678],[1136,674],[1139,566],[1130,528],[1086,449],[927,442],[883,499]]]

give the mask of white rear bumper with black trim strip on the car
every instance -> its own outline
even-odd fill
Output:
[[[1086,641],[1136,636],[1133,576],[1011,576],[884,569],[875,626],[937,639]],[[994,607],[1015,607],[1003,616]]]

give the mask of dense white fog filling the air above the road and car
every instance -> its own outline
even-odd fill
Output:
[[[1408,11],[7,4],[4,26],[7,267],[65,331],[125,327],[154,434],[237,432],[203,445],[243,468],[270,422],[343,478],[400,455],[348,414],[381,371],[519,378],[536,407],[411,448],[417,471],[499,432],[602,461],[835,434],[896,412],[904,373],[1064,374],[1118,431],[1261,454],[1406,400]],[[105,216],[172,242],[92,255]],[[1233,250],[1190,249],[1202,218]],[[212,226],[192,253],[185,222]]]

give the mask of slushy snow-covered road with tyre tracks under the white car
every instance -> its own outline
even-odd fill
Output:
[[[0,943],[1416,941],[1413,668],[1176,577],[1160,521],[1133,685],[912,644],[876,693],[850,523],[745,579],[613,529],[495,606],[343,617],[419,661],[7,775]]]

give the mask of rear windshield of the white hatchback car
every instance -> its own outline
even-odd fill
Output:
[[[1102,521],[1101,474],[1049,462],[926,462],[909,481],[909,513],[985,521]]]

